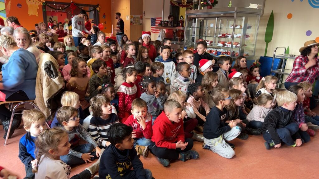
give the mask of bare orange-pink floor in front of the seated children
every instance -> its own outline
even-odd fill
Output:
[[[315,112],[319,112],[319,107]],[[319,132],[319,131],[317,131]],[[18,158],[19,139],[25,133],[24,129],[15,131],[7,146],[4,144],[4,131],[0,127],[0,165],[10,168],[25,176],[24,165]],[[318,133],[319,135],[319,133]],[[201,178],[319,178],[319,140],[318,136],[312,137],[309,143],[301,147],[288,147],[266,150],[262,136],[249,135],[248,140],[235,139],[236,155],[232,159],[225,159],[219,155],[202,149],[202,143],[194,142],[200,158],[186,162],[175,161],[168,168],[163,167],[153,154],[141,161],[144,168],[152,171],[156,179],[201,179]],[[93,161],[94,162],[94,161]],[[72,168],[71,176],[79,173],[88,165],[83,164]]]

